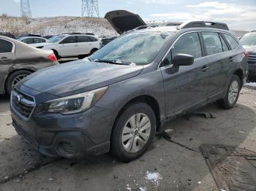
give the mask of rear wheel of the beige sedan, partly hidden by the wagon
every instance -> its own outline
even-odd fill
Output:
[[[7,78],[7,81],[5,83],[7,95],[10,95],[12,88],[15,85],[17,85],[17,83],[19,82],[19,79],[21,80],[21,79],[29,76],[29,74],[31,74],[31,71],[27,71],[27,70],[19,70],[19,71],[15,71],[12,74],[10,74],[10,76]]]

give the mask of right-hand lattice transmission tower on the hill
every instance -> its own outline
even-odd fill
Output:
[[[98,0],[82,0],[82,17],[99,17]]]

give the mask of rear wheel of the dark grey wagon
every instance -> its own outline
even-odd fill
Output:
[[[227,93],[224,98],[218,101],[219,105],[224,109],[231,109],[238,101],[241,90],[241,79],[237,75],[233,75],[227,86]]]

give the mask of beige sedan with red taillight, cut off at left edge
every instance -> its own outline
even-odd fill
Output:
[[[34,71],[58,64],[53,51],[37,50],[23,42],[0,36],[0,94]]]

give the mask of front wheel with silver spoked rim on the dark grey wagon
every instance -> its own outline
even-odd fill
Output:
[[[135,115],[141,123],[140,125],[137,123],[138,128],[132,128],[131,119],[136,120]],[[127,106],[117,118],[113,128],[110,145],[112,155],[123,162],[140,157],[151,145],[156,127],[156,116],[148,104],[136,103]]]

